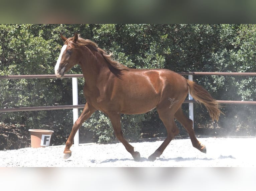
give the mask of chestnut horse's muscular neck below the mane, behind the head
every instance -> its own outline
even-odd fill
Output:
[[[82,59],[80,61],[80,66],[85,80],[92,86],[104,78],[108,78],[110,75],[110,70],[107,61],[103,56],[91,50],[88,47],[82,49]]]

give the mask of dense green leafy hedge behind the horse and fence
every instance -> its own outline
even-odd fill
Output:
[[[155,25],[155,24],[70,24],[0,25],[0,75],[53,74],[63,44],[62,33],[74,32],[112,52],[115,60],[131,68],[166,68],[175,72],[255,72],[256,25]],[[70,74],[79,74],[75,66]],[[194,76],[194,81],[220,100],[256,100],[255,77]],[[79,104],[85,103],[84,79],[78,80]],[[72,104],[71,79],[1,80],[0,108]],[[187,107],[184,106],[182,107]],[[195,128],[210,123],[205,107],[194,104]],[[255,107],[223,105],[218,123],[235,134],[255,135]],[[246,114],[245,114],[246,113]],[[24,124],[25,128],[48,127],[63,144],[72,127],[71,110],[0,113],[0,121]],[[137,140],[142,130],[160,126],[156,110],[142,115],[122,115],[124,136]],[[148,125],[148,127],[144,127]],[[115,139],[109,118],[96,112],[84,123],[99,142]],[[234,127],[234,128],[231,128]],[[241,130],[246,128],[247,130]],[[60,135],[61,134],[61,135]]]

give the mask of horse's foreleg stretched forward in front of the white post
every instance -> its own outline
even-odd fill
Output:
[[[64,159],[67,159],[69,157],[71,157],[71,150],[70,147],[73,144],[74,141],[74,137],[75,134],[77,132],[77,130],[81,127],[81,125],[83,124],[83,122],[88,119],[94,112],[96,111],[96,109],[94,107],[89,107],[88,103],[85,104],[84,110],[81,113],[81,115],[79,116],[79,118],[76,120],[76,122],[74,123],[71,133],[69,135],[69,138],[66,142],[66,147],[64,149]]]

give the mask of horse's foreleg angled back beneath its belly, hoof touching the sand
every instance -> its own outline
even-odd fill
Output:
[[[140,160],[140,153],[137,151],[134,151],[134,147],[130,145],[123,137],[123,132],[121,130],[120,114],[108,114],[108,116],[111,120],[117,139],[124,145],[126,150],[129,153],[131,153],[134,160],[136,161]]]

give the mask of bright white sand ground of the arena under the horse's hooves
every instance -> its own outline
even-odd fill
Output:
[[[65,145],[0,151],[0,167],[253,167],[256,138],[199,138],[207,154],[194,148],[190,139],[174,139],[154,162],[147,161],[163,141],[131,143],[142,160],[133,160],[121,143],[72,146],[63,159]]]

